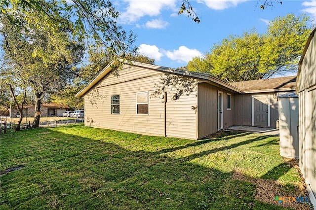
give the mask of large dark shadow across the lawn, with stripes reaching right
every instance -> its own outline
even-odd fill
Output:
[[[6,148],[1,164],[25,166],[1,175],[1,209],[281,209],[254,200],[255,185],[232,179],[232,173],[106,141],[44,128],[30,131],[29,137],[16,133],[13,139],[1,140]]]

